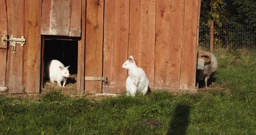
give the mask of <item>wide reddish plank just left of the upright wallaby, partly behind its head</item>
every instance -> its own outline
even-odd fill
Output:
[[[113,32],[113,35],[104,36],[105,50],[109,51],[104,52],[107,53],[104,56],[109,56],[104,57],[104,75],[107,75],[105,74],[106,72],[111,72],[108,74],[110,76],[106,76],[108,77],[108,85],[110,86],[125,86],[126,70],[122,69],[121,65],[127,59],[128,52],[129,4],[129,1],[125,0],[105,2],[104,18],[106,22],[104,24],[104,30],[106,31],[104,31],[104,35]],[[111,13],[114,13],[114,16],[112,16]],[[108,17],[111,18],[107,19]],[[108,88],[108,90],[103,91],[103,93],[108,93],[110,89],[111,88]],[[125,91],[125,89],[121,89],[120,91]]]

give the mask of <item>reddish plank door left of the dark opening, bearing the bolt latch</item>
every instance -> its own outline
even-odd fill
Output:
[[[26,43],[22,47],[16,43],[13,51],[8,43],[1,49],[1,85],[9,87],[10,93],[39,93],[40,89],[40,1],[0,0],[1,35],[14,38],[24,36]],[[4,13],[4,14],[2,14]],[[4,60],[5,59],[5,60]],[[6,61],[8,62],[6,64]],[[4,68],[5,67],[5,68]],[[3,72],[3,69],[5,70]]]

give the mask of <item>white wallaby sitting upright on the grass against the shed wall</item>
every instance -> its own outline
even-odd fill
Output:
[[[127,94],[135,96],[136,93],[142,93],[145,95],[148,89],[148,80],[145,72],[137,67],[132,55],[123,63],[122,68],[127,69],[129,73],[125,83]]]

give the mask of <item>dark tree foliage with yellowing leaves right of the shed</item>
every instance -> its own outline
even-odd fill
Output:
[[[255,8],[254,0],[201,0],[200,31],[209,30],[214,20],[215,45],[255,46]]]

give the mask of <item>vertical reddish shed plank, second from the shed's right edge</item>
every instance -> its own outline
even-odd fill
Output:
[[[167,87],[179,88],[183,43],[185,0],[172,1],[170,19],[170,58],[167,63]]]

